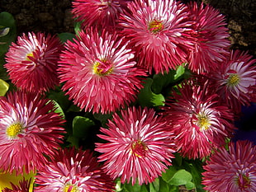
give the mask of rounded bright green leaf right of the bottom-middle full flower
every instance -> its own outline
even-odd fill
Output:
[[[170,185],[186,185],[192,180],[192,175],[186,170],[177,171],[173,178],[168,182]]]

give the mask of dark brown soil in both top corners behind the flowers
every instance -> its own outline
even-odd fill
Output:
[[[190,0],[183,0],[189,2]],[[249,50],[256,56],[256,0],[194,0],[209,3],[226,16],[232,49]],[[10,12],[18,34],[44,31],[73,33],[71,0],[1,0],[0,12]]]

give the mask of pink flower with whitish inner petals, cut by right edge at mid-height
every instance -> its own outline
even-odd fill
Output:
[[[250,105],[256,99],[255,62],[256,59],[246,52],[232,50],[220,68],[212,68],[208,75],[221,101],[236,114],[242,105]]]

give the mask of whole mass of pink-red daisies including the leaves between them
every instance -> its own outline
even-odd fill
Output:
[[[74,0],[72,13],[69,40],[30,32],[7,51],[1,172],[35,173],[34,191],[114,191],[154,182],[180,154],[207,159],[205,190],[256,190],[254,144],[230,142],[256,101],[256,59],[230,49],[225,16],[175,0]]]

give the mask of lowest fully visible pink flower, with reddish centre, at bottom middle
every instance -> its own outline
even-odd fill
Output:
[[[171,165],[173,158],[173,135],[161,116],[153,109],[130,107],[116,113],[113,121],[107,123],[109,129],[101,128],[98,137],[108,143],[96,143],[98,157],[104,162],[103,169],[111,178],[121,177],[121,182],[132,185],[138,179],[139,185],[153,182]]]

